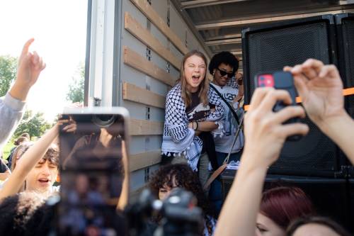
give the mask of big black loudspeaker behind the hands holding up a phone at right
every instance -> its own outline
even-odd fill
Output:
[[[308,58],[325,64],[337,64],[336,27],[333,15],[303,18],[278,23],[267,28],[242,30],[245,103],[255,89],[253,77],[261,72],[282,70],[285,65],[301,64]],[[270,174],[295,176],[328,176],[341,173],[338,148],[309,120],[306,137],[297,142],[285,142],[278,162]],[[256,145],[256,144],[255,144]]]

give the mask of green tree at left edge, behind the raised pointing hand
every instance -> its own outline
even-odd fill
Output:
[[[0,96],[4,96],[16,79],[17,58],[0,56]]]

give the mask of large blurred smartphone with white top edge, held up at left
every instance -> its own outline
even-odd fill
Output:
[[[128,111],[69,108],[68,130],[59,128],[60,201],[57,235],[125,235],[118,203],[126,196]],[[124,146],[124,147],[123,147]]]

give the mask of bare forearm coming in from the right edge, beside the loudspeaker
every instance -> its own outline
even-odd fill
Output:
[[[319,124],[319,128],[336,144],[354,164],[354,120],[348,113],[344,112],[342,116],[325,120]]]

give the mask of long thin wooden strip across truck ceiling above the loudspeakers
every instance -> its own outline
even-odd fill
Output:
[[[210,30],[213,28],[222,28],[222,27],[234,27],[234,26],[248,26],[256,23],[268,23],[268,22],[275,22],[275,21],[286,21],[298,18],[307,18],[311,16],[321,16],[324,14],[337,14],[337,13],[345,13],[346,10],[340,11],[326,11],[326,12],[316,12],[316,13],[307,13],[307,14],[297,14],[297,15],[290,15],[290,16],[275,16],[275,17],[266,17],[266,18],[256,18],[256,19],[249,19],[249,20],[230,20],[225,22],[219,23],[205,23],[195,26],[197,30]]]

